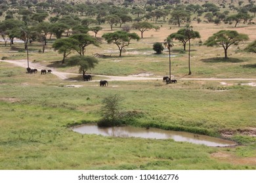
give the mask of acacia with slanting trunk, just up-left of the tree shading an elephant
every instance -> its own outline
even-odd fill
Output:
[[[77,46],[79,42],[73,38],[62,38],[57,39],[53,42],[54,50],[58,50],[59,54],[63,54],[62,64],[65,61],[65,58],[72,53],[73,50],[79,50]]]

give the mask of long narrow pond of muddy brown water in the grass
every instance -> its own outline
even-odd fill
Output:
[[[177,142],[191,142],[194,144],[204,144],[206,146],[234,146],[235,142],[196,135],[182,131],[169,131],[156,128],[137,128],[137,127],[98,127],[97,125],[79,125],[72,128],[73,131],[81,134],[96,134],[113,137],[140,137],[145,139],[173,139]]]

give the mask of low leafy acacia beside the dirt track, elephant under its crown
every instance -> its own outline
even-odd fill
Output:
[[[77,65],[79,67],[79,73],[85,75],[86,71],[95,68],[98,64],[98,59],[92,56],[72,56],[68,59],[68,65]]]

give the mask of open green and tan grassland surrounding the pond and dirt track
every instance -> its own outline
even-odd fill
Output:
[[[169,54],[166,48],[155,54],[152,46],[181,27],[158,25],[160,30],[146,31],[143,39],[125,47],[121,57],[116,45],[104,41],[100,47],[88,46],[85,53],[111,56],[98,58],[98,65],[88,71],[91,75],[143,73],[158,80],[110,80],[107,87],[100,87],[95,80],[108,80],[107,76],[93,76],[92,82],[84,82],[81,75],[61,80],[53,73],[27,74],[25,68],[0,61],[0,169],[255,169],[256,88],[249,84],[255,83],[256,63],[255,54],[243,51],[256,39],[255,25],[240,23],[235,28],[192,21],[201,35],[191,41],[192,75],[181,42],[175,41],[171,50],[171,74],[177,84],[162,82],[169,75]],[[108,24],[101,26],[97,37],[110,32]],[[114,26],[113,31],[119,29]],[[249,41],[228,48],[228,59],[223,59],[223,48],[202,44],[221,29],[249,36]],[[47,41],[45,53],[38,51],[41,42],[29,44],[30,62],[78,74],[78,67],[61,64],[62,55],[52,48],[54,40]],[[6,60],[26,61],[22,49],[23,43],[10,47],[0,42],[1,58]],[[220,148],[171,139],[102,137],[70,129],[98,122],[102,99],[113,94],[123,98],[123,111],[138,114],[127,125],[188,131],[238,145]]]

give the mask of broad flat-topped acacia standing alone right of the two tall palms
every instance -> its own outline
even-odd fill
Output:
[[[221,30],[207,39],[204,43],[206,46],[223,46],[224,58],[228,58],[228,48],[232,44],[238,44],[241,41],[249,40],[248,35],[238,33],[237,31]]]

